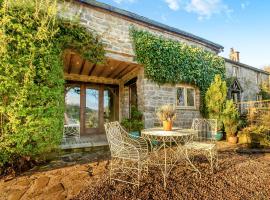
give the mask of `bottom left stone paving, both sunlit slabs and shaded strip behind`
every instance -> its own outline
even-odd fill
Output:
[[[106,171],[108,157],[107,146],[62,152],[21,176],[0,179],[0,200],[71,199]]]

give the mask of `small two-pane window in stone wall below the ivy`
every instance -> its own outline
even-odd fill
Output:
[[[195,107],[195,89],[191,87],[177,88],[177,102],[178,107]]]

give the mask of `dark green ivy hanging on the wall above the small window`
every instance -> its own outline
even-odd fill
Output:
[[[147,31],[130,29],[137,61],[144,66],[145,75],[158,84],[190,83],[201,91],[201,110],[204,109],[205,93],[216,74],[225,78],[223,58],[202,48]]]

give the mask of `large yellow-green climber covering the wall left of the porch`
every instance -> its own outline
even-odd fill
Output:
[[[97,63],[99,38],[58,18],[56,0],[0,1],[0,174],[57,148],[64,116],[65,49]]]

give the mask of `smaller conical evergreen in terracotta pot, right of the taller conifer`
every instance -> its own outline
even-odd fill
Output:
[[[223,124],[229,143],[237,143],[237,128],[239,125],[239,113],[233,100],[227,100],[223,110]]]

